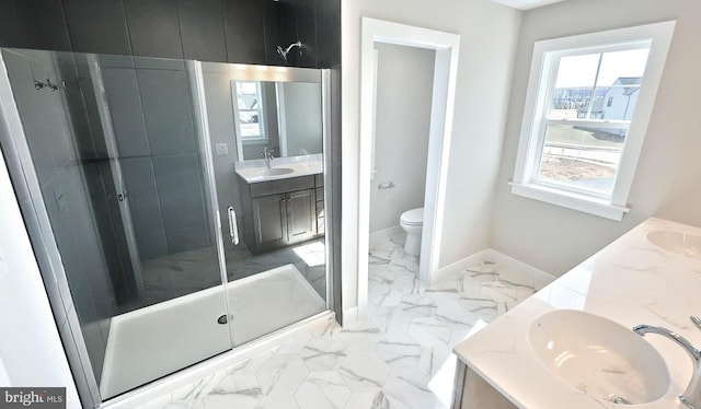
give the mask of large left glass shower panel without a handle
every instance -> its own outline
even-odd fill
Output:
[[[65,283],[102,399],[230,350],[185,61],[2,49],[2,62],[22,122],[2,149],[23,159],[13,183],[41,191],[22,210],[50,226],[30,236],[60,255],[39,267]]]

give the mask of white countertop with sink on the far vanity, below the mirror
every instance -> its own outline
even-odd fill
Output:
[[[324,172],[321,154],[309,155],[304,161],[300,161],[298,157],[276,157],[271,167],[267,167],[265,160],[238,162],[235,172],[249,184],[317,175]],[[266,174],[268,170],[281,170],[287,173]]]

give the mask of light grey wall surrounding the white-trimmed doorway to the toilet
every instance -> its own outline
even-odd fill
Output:
[[[342,0],[343,308],[357,303],[360,17],[460,34],[440,266],[489,245],[520,12],[489,0]],[[364,176],[365,177],[365,176]]]

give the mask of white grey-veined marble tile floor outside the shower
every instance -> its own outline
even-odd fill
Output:
[[[449,408],[453,346],[530,296],[535,283],[484,261],[425,288],[402,243],[370,250],[367,320],[296,336],[140,408]]]

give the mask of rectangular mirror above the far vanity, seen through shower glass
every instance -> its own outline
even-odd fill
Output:
[[[239,161],[322,153],[321,83],[231,81]]]

